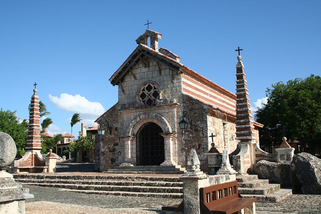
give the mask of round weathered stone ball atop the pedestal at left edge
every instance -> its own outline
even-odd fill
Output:
[[[0,132],[0,169],[7,167],[16,157],[17,148],[12,137]]]

